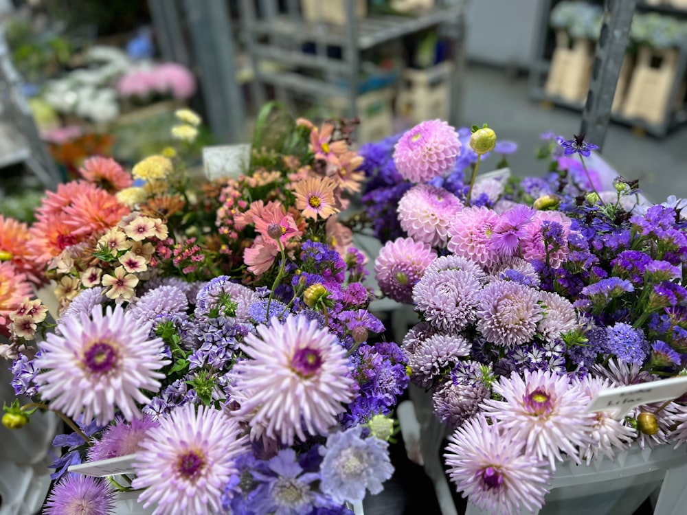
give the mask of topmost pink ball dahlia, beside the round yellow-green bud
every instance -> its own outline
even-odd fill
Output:
[[[403,179],[424,183],[453,171],[460,147],[453,127],[438,119],[428,120],[401,136],[394,148],[394,164]]]

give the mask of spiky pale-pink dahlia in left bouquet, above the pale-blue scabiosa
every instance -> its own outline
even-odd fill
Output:
[[[241,350],[251,359],[232,369],[235,391],[252,396],[234,411],[251,426],[264,426],[267,437],[293,445],[295,437],[327,435],[345,410],[342,402],[355,396],[356,383],[346,350],[317,321],[289,315],[282,325],[258,325],[246,336]]]

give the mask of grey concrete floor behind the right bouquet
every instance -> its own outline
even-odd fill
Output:
[[[468,67],[461,113],[462,125],[487,123],[499,139],[519,144],[510,168],[521,176],[545,171],[545,164],[534,157],[541,146],[541,133],[554,132],[572,139],[581,122],[581,113],[530,100],[526,77],[480,65]],[[625,178],[640,179],[650,201],[662,202],[671,194],[687,197],[687,126],[657,139],[611,124],[602,155]]]

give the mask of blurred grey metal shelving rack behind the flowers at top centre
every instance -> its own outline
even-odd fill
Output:
[[[257,5],[256,5],[257,4]],[[454,0],[417,16],[370,16],[357,19],[354,0],[346,0],[346,24],[308,23],[302,19],[297,0],[286,0],[286,11],[278,10],[276,0],[241,0],[241,25],[255,73],[253,96],[257,104],[266,99],[265,87],[271,84],[278,95],[285,92],[311,98],[346,98],[352,117],[357,115],[361,52],[381,43],[402,38],[430,27],[440,27],[451,42],[454,63],[451,76],[449,122],[458,123],[461,79],[464,74],[464,0]],[[315,54],[302,51],[303,43],[314,43]],[[327,47],[341,47],[342,58],[327,56]],[[276,60],[289,71],[261,71],[261,60]],[[295,70],[317,70],[324,78],[313,78]],[[345,77],[340,86],[334,77]]]

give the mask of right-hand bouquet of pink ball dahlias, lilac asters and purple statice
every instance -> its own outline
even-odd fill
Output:
[[[547,176],[482,183],[487,126],[423,122],[361,149],[381,184],[363,198],[400,197],[375,273],[420,317],[403,339],[411,380],[453,430],[451,479],[491,512],[539,509],[563,459],[687,440],[684,397],[587,412],[599,391],[685,374],[687,203],[642,204],[622,177],[601,190],[596,146],[545,139]]]

